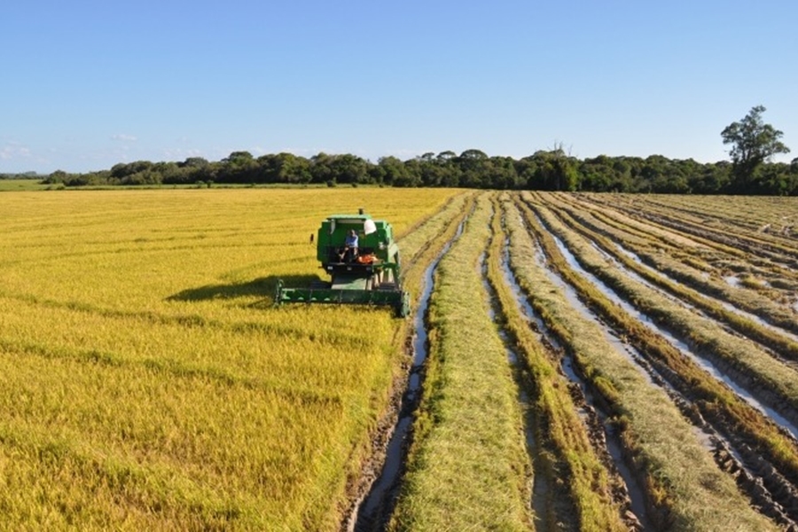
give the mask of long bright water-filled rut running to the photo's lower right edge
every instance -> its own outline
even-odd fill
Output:
[[[539,220],[539,219],[538,219]],[[539,220],[540,223],[543,223],[542,220]],[[548,226],[546,226],[548,227]],[[740,399],[748,403],[750,406],[754,407],[756,410],[761,411],[765,416],[770,418],[774,423],[782,428],[786,429],[787,432],[793,435],[794,438],[798,438],[798,426],[795,426],[794,423],[786,419],[784,416],[775,411],[770,406],[764,404],[758,398],[756,398],[753,394],[751,394],[746,388],[741,387],[737,382],[732,379],[732,377],[726,375],[722,372],[719,368],[716,367],[710,360],[706,358],[702,358],[696,355],[692,349],[682,340],[679,340],[676,336],[671,334],[668,330],[657,325],[652,318],[648,317],[644,313],[640,312],[637,308],[632,306],[628,301],[624,300],[621,296],[614,292],[612,288],[606,286],[606,284],[601,281],[599,278],[594,276],[591,272],[585,270],[579,261],[576,259],[575,255],[571,253],[571,251],[567,248],[565,243],[557,235],[555,235],[551,230],[549,230],[552,234],[552,238],[557,243],[557,247],[563,257],[565,258],[568,265],[575,270],[576,273],[581,275],[583,278],[587,279],[591,285],[595,286],[599,292],[604,294],[610,301],[613,301],[615,304],[619,305],[623,310],[630,314],[631,317],[637,319],[640,323],[651,329],[653,332],[661,335],[665,340],[674,347],[679,350],[685,356],[688,356],[695,364],[698,364],[701,369],[705,372],[708,372],[713,378],[724,382],[724,384],[734,391]]]

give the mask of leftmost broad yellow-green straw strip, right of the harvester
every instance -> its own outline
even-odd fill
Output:
[[[517,388],[477,267],[489,216],[482,194],[439,265],[424,394],[394,530],[530,528]]]

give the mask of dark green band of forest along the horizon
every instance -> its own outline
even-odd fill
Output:
[[[56,171],[45,184],[97,185],[326,184],[395,187],[464,187],[585,192],[798,195],[798,158],[763,162],[737,172],[729,161],[700,163],[661,155],[579,160],[558,148],[515,160],[480,150],[425,153],[410,160],[383,157],[375,164],[351,154],[292,153],[254,157],[234,152],[220,161],[192,157],[183,162],[120,163],[84,174]]]

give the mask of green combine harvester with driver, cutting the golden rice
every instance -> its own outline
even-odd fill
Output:
[[[312,237],[311,237],[312,239]],[[396,315],[410,314],[410,295],[400,284],[399,246],[390,223],[357,215],[329,216],[318,230],[317,258],[331,276],[307,288],[278,281],[275,304],[340,303],[383,305]]]

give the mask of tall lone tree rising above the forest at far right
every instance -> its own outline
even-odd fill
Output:
[[[777,153],[790,152],[779,140],[784,133],[763,122],[765,110],[764,106],[755,106],[741,121],[732,122],[721,131],[724,145],[732,145],[729,155],[732,156],[734,192],[747,192],[763,162]]]

